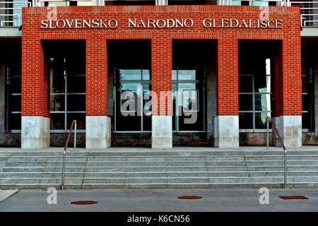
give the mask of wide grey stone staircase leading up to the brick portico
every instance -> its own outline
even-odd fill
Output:
[[[0,151],[0,189],[61,189],[61,151]],[[283,150],[66,153],[65,189],[283,188]],[[308,149],[308,148],[307,148]],[[288,187],[318,187],[318,150],[288,150]]]

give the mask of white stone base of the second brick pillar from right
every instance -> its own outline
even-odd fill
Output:
[[[238,115],[218,115],[212,118],[213,143],[217,148],[239,148]]]

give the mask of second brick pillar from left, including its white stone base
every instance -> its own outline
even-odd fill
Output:
[[[107,43],[105,38],[86,40],[86,148],[109,148],[107,117]]]

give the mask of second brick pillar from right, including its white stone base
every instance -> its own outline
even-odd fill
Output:
[[[218,40],[216,78],[217,115],[212,119],[214,145],[239,147],[237,40]]]

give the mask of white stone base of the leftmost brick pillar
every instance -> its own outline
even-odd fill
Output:
[[[21,117],[21,148],[49,148],[49,118]]]

